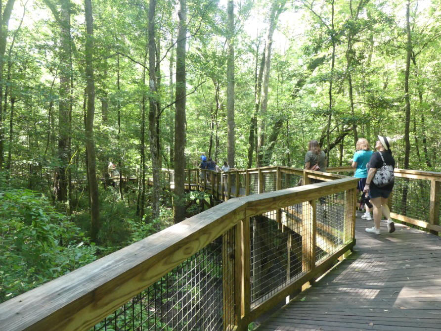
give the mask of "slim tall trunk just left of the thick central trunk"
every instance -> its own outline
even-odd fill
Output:
[[[152,159],[153,190],[152,190],[152,217],[159,217],[159,150],[156,131],[157,119],[157,88],[156,88],[156,45],[155,45],[155,9],[156,0],[149,1],[148,10],[148,68],[149,68],[149,138],[150,155]]]

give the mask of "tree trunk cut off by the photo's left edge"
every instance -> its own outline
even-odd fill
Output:
[[[7,39],[7,28],[9,23],[9,18],[11,17],[12,8],[14,6],[15,0],[8,0],[4,7],[3,12],[0,7],[0,169],[3,168],[4,156],[3,156],[3,140],[4,140],[4,125],[3,125],[3,112],[6,109],[2,109],[1,100],[3,99],[3,67],[4,67],[4,53],[6,51],[6,39]]]

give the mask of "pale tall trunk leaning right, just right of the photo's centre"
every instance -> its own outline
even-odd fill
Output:
[[[266,132],[266,111],[268,103],[268,83],[269,83],[269,69],[271,66],[271,47],[272,47],[272,35],[274,34],[275,26],[284,6],[283,3],[279,3],[278,0],[273,0],[271,4],[271,9],[269,13],[269,28],[268,34],[266,36],[266,46],[265,46],[265,69],[263,75],[263,91],[261,97],[261,109],[260,116],[258,120],[258,142],[257,142],[257,167],[263,165],[265,159],[264,147],[265,147],[265,132]]]

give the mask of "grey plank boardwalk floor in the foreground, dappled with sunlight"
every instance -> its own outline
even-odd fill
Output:
[[[257,330],[441,330],[441,237],[372,225],[357,218],[354,253]]]

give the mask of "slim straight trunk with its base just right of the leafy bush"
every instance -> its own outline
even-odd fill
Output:
[[[93,78],[93,25],[92,3],[85,0],[86,15],[86,80],[87,80],[87,116],[86,116],[86,150],[88,158],[88,187],[90,195],[91,238],[96,241],[100,229],[98,184],[95,169],[95,142],[93,138],[93,116],[95,113],[95,82]]]

